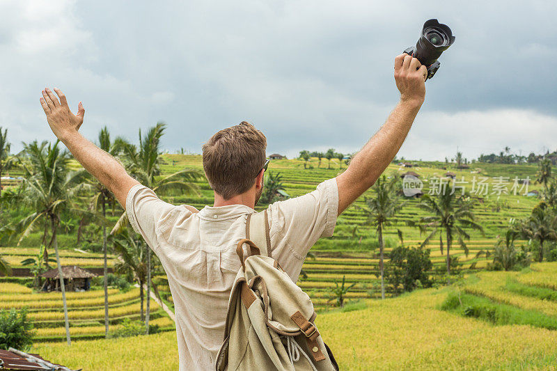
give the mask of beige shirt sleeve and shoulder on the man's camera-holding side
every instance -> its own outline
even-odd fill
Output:
[[[336,178],[320,183],[309,194],[269,205],[271,256],[292,281],[297,281],[304,259],[317,239],[333,235],[337,213]]]

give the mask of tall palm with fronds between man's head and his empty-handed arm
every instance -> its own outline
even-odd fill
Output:
[[[201,173],[196,170],[183,168],[171,175],[160,176],[160,165],[163,162],[162,150],[160,148],[160,140],[164,134],[166,125],[164,123],[157,123],[151,127],[146,136],[141,136],[141,129],[139,130],[139,148],[135,145],[124,145],[124,160],[130,173],[144,186],[152,189],[157,194],[173,194],[180,191],[182,194],[196,194],[198,195],[198,187],[194,182],[201,178]],[[111,234],[116,234],[123,229],[124,221],[127,219],[127,214],[124,212],[120,219],[114,226]],[[146,271],[150,272],[150,248],[148,244],[143,246],[146,248],[146,261],[148,267]],[[147,308],[146,308],[146,322],[149,321],[150,313],[150,287],[151,280],[147,279]],[[147,326],[148,329],[148,326]]]

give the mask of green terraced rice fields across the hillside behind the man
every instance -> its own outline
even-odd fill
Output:
[[[165,155],[165,164],[162,166],[163,176],[180,170],[183,167],[196,168],[203,171],[201,157],[194,155]],[[415,171],[421,175],[421,179],[425,184],[425,192],[429,189],[429,184],[434,177],[444,176],[446,170],[441,166],[444,163],[416,163],[415,168],[401,168],[395,164],[391,164],[386,171],[387,175],[400,175],[407,170]],[[79,165],[74,164],[75,168]],[[321,167],[318,168],[317,159],[311,159],[308,162],[311,168],[304,169],[304,161],[292,160],[273,160],[269,164],[268,171],[273,173],[279,172],[282,175],[285,191],[290,196],[300,196],[313,191],[317,184],[334,177],[340,173],[338,160],[331,161],[331,168],[327,168],[327,160],[322,160]],[[345,164],[342,168],[346,168]],[[535,177],[537,167],[530,164],[521,165],[496,165],[496,164],[473,164],[470,170],[458,171],[450,168],[450,171],[456,173],[457,179],[464,178],[471,182],[473,177],[489,177],[489,184],[492,186],[496,183],[496,177],[509,177],[508,191],[512,186],[512,179],[517,176],[521,179]],[[17,175],[17,174],[15,174]],[[165,198],[168,202],[180,204],[187,203],[198,209],[205,205],[212,205],[213,194],[207,182],[203,179],[198,182],[198,196],[172,196]],[[468,190],[470,190],[468,189]],[[531,184],[530,190],[540,189],[537,184]],[[524,191],[523,191],[524,192]],[[512,191],[510,191],[512,193]],[[368,191],[368,196],[372,193]],[[384,231],[384,240],[386,242],[386,251],[398,246],[397,230],[401,230],[404,236],[406,246],[417,246],[421,243],[424,236],[416,228],[407,226],[407,221],[416,221],[420,216],[424,216],[423,210],[418,207],[419,200],[411,198],[407,200],[405,207],[397,216],[390,226]],[[474,208],[474,214],[477,221],[483,226],[484,233],[470,231],[471,239],[466,242],[469,248],[469,255],[464,254],[464,250],[458,246],[453,246],[451,254],[459,258],[460,268],[468,272],[476,272],[483,269],[490,259],[485,255],[476,258],[476,254],[480,251],[487,251],[493,248],[498,235],[505,230],[508,220],[512,217],[519,219],[531,212],[532,207],[538,203],[535,197],[514,196],[512,194],[492,194],[490,190],[487,195],[478,196],[478,202]],[[356,200],[356,205],[363,205],[363,197]],[[265,207],[258,206],[258,210]],[[118,210],[114,216],[109,215],[110,221],[118,219]],[[59,240],[61,242],[61,260],[62,265],[79,265],[88,269],[100,269],[102,267],[102,255],[100,253],[91,253],[75,248],[75,231],[67,235],[61,232]],[[35,242],[38,241],[38,232],[31,234],[29,239],[24,239],[22,246],[0,247],[0,253],[15,268],[21,268],[21,261],[26,258],[36,256],[37,247]],[[446,255],[441,255],[439,251],[439,239],[428,246],[432,249],[431,259],[434,268],[430,272],[433,276],[443,274]],[[349,301],[356,301],[366,298],[374,298],[379,294],[378,279],[378,248],[375,228],[366,226],[366,216],[356,207],[350,207],[345,213],[338,218],[334,236],[327,239],[320,239],[312,248],[315,258],[307,258],[304,264],[306,278],[301,278],[298,285],[302,287],[312,297],[317,310],[331,310],[334,301],[331,301],[329,288],[334,287],[334,282],[340,282],[345,276],[347,282],[355,282],[356,285],[347,294]],[[53,253],[53,252],[51,252]],[[116,258],[111,255],[109,258],[109,267],[113,267]],[[549,273],[551,274],[551,273]],[[543,282],[547,287],[555,289],[554,283],[539,274],[527,274],[517,277],[521,282],[535,284]],[[540,278],[543,277],[543,278]],[[157,277],[159,283],[163,283],[166,277]],[[0,278],[1,285],[1,301],[0,308],[22,308],[28,306],[30,308],[30,317],[36,323],[37,339],[47,340],[54,338],[63,338],[63,317],[61,316],[61,302],[57,294],[32,294],[29,289],[21,285],[10,282],[29,281],[26,278],[15,279]],[[551,281],[554,282],[554,281]],[[164,286],[164,285],[163,285]],[[15,292],[13,292],[15,290]],[[18,291],[19,290],[19,291]],[[134,289],[136,290],[136,289]],[[139,315],[139,294],[134,290],[131,292],[111,291],[111,318],[115,326],[124,317],[138,317]],[[473,288],[469,288],[473,290]],[[481,287],[476,287],[481,290]],[[479,291],[477,292],[479,293]],[[387,294],[391,295],[390,287],[387,287]],[[52,296],[51,296],[52,295]],[[169,292],[162,287],[162,295],[172,303]],[[104,316],[102,291],[95,290],[84,293],[68,293],[68,307],[70,308],[70,320],[72,322],[72,335],[78,337],[96,337],[104,333],[102,326],[102,318]],[[152,304],[156,308],[156,303]],[[171,328],[168,323],[169,319],[162,316],[162,310],[154,313],[154,321],[162,322],[161,326]],[[156,324],[157,322],[155,322]]]

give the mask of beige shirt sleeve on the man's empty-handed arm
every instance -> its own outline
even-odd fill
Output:
[[[156,229],[159,221],[175,208],[175,205],[165,203],[152,189],[141,184],[136,184],[127,193],[127,219],[153,251],[156,251],[158,246]]]

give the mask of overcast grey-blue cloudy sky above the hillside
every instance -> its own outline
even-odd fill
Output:
[[[267,152],[352,152],[398,102],[393,58],[425,20],[455,44],[427,81],[400,154],[444,159],[556,150],[556,1],[0,1],[0,126],[13,152],[54,139],[40,90],[58,87],[95,139],[137,140],[168,124],[164,148],[201,152],[251,121]],[[432,10],[434,9],[434,10]]]

